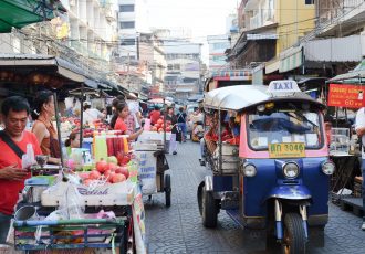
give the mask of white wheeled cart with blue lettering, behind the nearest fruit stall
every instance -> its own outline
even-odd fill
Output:
[[[169,140],[169,135],[167,140]],[[164,134],[144,131],[134,147],[139,160],[138,178],[142,193],[150,199],[153,194],[165,192],[166,207],[171,204],[171,179],[164,146]]]

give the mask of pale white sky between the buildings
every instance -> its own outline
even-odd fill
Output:
[[[187,28],[194,42],[205,43],[202,60],[208,64],[207,35],[225,34],[226,18],[236,13],[238,0],[147,0],[148,22],[155,28]]]

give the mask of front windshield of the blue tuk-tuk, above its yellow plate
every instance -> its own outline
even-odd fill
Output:
[[[254,150],[267,150],[269,144],[304,142],[305,148],[321,148],[323,135],[320,115],[310,110],[278,110],[248,115],[248,140]]]

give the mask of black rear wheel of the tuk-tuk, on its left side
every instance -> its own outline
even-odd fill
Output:
[[[217,226],[218,203],[212,197],[212,192],[206,191],[206,187],[202,188],[201,194],[201,218],[204,226]]]

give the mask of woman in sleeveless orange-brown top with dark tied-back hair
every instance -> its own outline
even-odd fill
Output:
[[[53,94],[51,91],[40,91],[34,98],[34,110],[32,117],[34,121],[32,133],[35,135],[43,155],[48,155],[48,162],[61,163],[61,148],[58,134],[52,123],[55,115]]]

